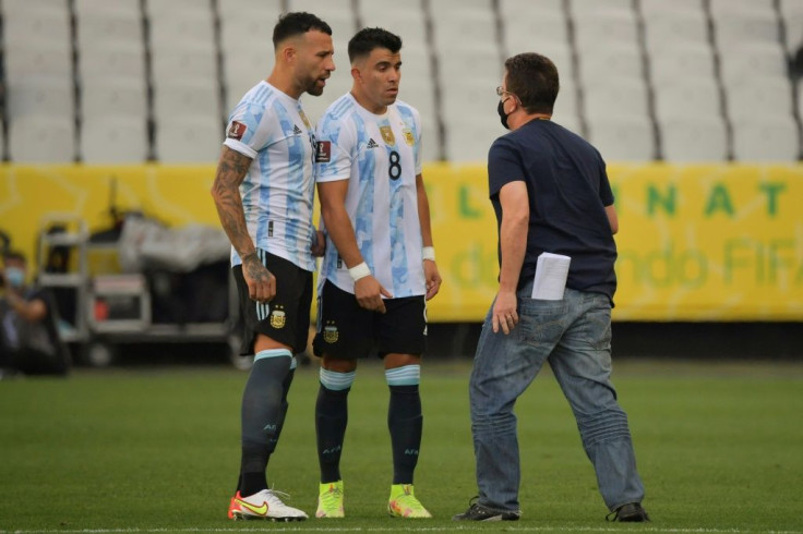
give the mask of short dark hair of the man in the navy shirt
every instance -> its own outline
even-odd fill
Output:
[[[561,88],[558,68],[546,56],[527,52],[507,58],[507,90],[529,113],[552,113]]]

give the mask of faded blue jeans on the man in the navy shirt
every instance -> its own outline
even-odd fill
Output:
[[[513,408],[549,361],[574,412],[583,447],[610,510],[640,502],[644,486],[627,415],[616,402],[611,375],[611,306],[608,298],[566,289],[562,301],[530,299],[518,291],[519,323],[493,333],[491,313],[482,326],[469,384],[471,433],[479,503],[519,510],[520,466]]]

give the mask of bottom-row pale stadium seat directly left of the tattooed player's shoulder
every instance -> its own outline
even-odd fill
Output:
[[[163,163],[213,163],[223,139],[217,116],[175,116],[156,125],[156,156]]]

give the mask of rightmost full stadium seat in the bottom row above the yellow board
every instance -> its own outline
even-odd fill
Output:
[[[733,156],[739,161],[796,161],[800,131],[792,117],[742,117],[733,121]]]

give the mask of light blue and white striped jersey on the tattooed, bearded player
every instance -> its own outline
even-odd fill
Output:
[[[315,270],[315,133],[299,100],[260,82],[231,112],[224,144],[253,159],[240,196],[254,246]],[[240,263],[232,247],[231,265]]]

